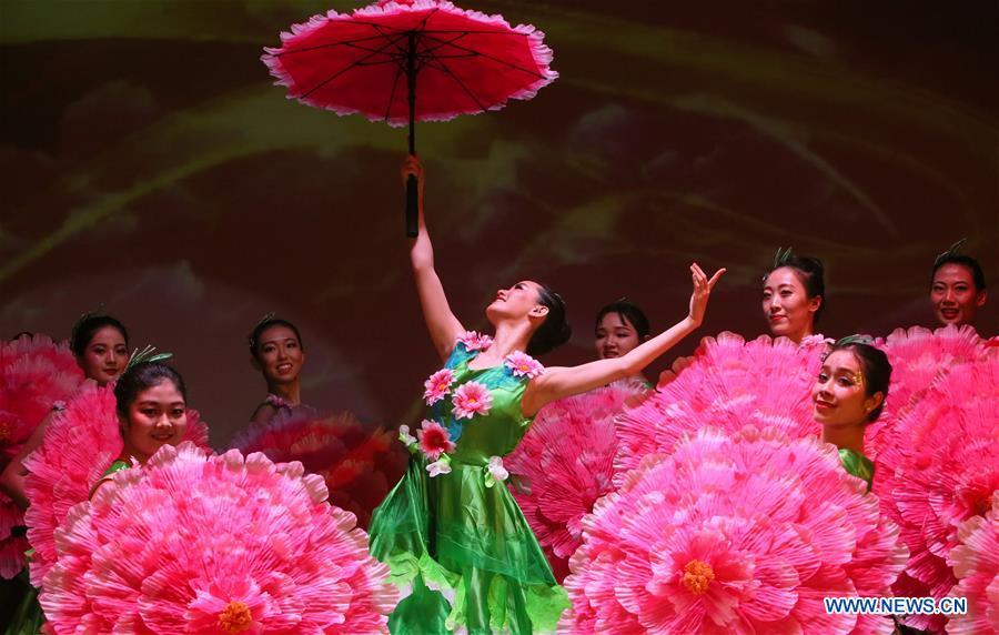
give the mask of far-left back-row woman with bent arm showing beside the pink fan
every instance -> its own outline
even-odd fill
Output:
[[[73,326],[70,349],[83,374],[103,386],[113,381],[129,361],[129,332],[110,315],[87,313]],[[24,475],[28,472],[22,462],[41,444],[51,419],[52,414],[34,429],[21,451],[0,474],[0,488],[22,508],[28,508],[28,498],[24,497]]]

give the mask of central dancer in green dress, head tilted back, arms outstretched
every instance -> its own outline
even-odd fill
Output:
[[[568,599],[506,490],[503,457],[546,403],[634,375],[693,332],[724,270],[708,279],[693,264],[688,314],[627,354],[544,369],[531,355],[569,335],[562,299],[522,281],[497,291],[486,309],[493,336],[465,331],[434,270],[423,168],[415,157],[403,164],[403,179],[410,174],[420,196],[420,232],[410,256],[444,366],[424,384],[428,412],[416,435],[401,429],[413,456],[372,518],[372,554],[392,567],[397,584],[412,585],[389,626],[395,634],[553,631]]]

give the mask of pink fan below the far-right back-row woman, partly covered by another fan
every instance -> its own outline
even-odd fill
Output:
[[[956,366],[981,359],[986,342],[971,326],[946,326],[930,331],[921,326],[897,329],[884,343],[891,362],[891,390],[885,411],[865,432],[866,450],[880,461],[885,446],[894,445],[898,420],[912,409],[930,385]]]

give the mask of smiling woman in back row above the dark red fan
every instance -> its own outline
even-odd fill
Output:
[[[301,405],[299,374],[305,363],[305,347],[294,324],[273,313],[265,315],[250,333],[250,356],[268,384],[268,399],[256,406],[250,421],[266,423],[281,409]]]

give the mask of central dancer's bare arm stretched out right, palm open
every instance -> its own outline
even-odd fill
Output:
[[[700,326],[712,289],[715,288],[715,283],[718,282],[723,273],[725,273],[725,270],[719,269],[708,280],[697,263],[692,264],[690,274],[694,281],[694,293],[690,295],[690,310],[686,318],[652,340],[635,346],[620,357],[598,360],[579,366],[553,366],[545,369],[543,374],[528,384],[527,391],[524,393],[524,401],[521,406],[524,414],[534,416],[542,406],[557,399],[586,392],[644,370],[653,360],[675,346],[677,342]]]

